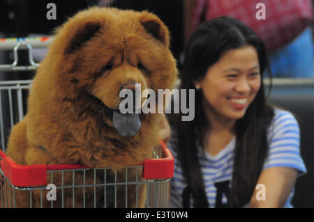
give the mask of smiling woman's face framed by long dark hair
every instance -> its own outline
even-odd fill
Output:
[[[219,120],[243,118],[261,84],[256,49],[246,46],[227,51],[197,84],[210,116]]]

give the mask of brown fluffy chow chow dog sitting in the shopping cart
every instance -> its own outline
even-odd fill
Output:
[[[137,83],[142,90],[172,89],[177,68],[169,45],[167,27],[154,14],[114,8],[77,13],[57,29],[38,68],[27,116],[10,134],[8,156],[23,165],[84,164],[97,168],[133,166],[150,158],[151,148],[158,145],[162,116],[141,113],[137,134],[121,136],[112,115],[119,109],[121,88],[133,90]],[[82,173],[75,174],[75,184],[80,183]],[[94,180],[94,173],[91,175],[85,175],[87,181]],[[65,173],[63,184],[72,184],[72,178],[72,173]],[[117,180],[123,181],[125,176]],[[135,171],[128,172],[130,180],[135,180]],[[103,177],[97,174],[96,182],[103,182]],[[61,184],[61,173],[54,175],[53,183]],[[62,206],[60,192],[54,207]],[[63,206],[73,207],[72,189],[64,192]],[[75,207],[83,206],[82,192],[75,192]],[[85,192],[86,207],[94,207],[94,188]],[[128,186],[127,192],[128,207],[135,207],[135,186]],[[124,207],[125,188],[117,193],[117,207]],[[144,206],[145,194],[140,186],[139,207]],[[32,207],[40,207],[39,191],[31,195]],[[15,196],[17,207],[29,207],[29,191]],[[103,207],[99,204],[104,201],[103,194],[99,196],[96,205]],[[43,207],[50,207],[45,193],[42,198]]]

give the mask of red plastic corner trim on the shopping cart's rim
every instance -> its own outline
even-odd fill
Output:
[[[165,143],[160,140],[160,146],[165,154],[165,158],[146,159],[142,164],[143,178],[146,180],[167,179],[173,177],[174,158],[167,149]],[[38,187],[47,185],[47,171],[89,168],[78,164],[62,164],[62,165],[30,165],[23,166],[16,164],[13,159],[6,156],[0,150],[1,170],[3,174],[16,187]]]

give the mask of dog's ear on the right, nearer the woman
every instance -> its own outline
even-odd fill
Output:
[[[154,14],[143,12],[141,13],[140,23],[144,28],[151,33],[157,40],[163,42],[167,47],[170,45],[170,36],[167,26]]]

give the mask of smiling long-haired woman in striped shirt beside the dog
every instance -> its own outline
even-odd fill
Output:
[[[299,126],[267,103],[267,68],[264,43],[237,19],[211,19],[191,35],[180,89],[196,89],[195,119],[172,126],[170,207],[292,207],[306,172]]]

